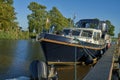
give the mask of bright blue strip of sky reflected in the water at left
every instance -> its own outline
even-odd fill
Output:
[[[19,76],[20,76],[20,74],[22,74],[22,75],[28,74],[29,63],[26,61],[27,57],[29,55],[28,48],[29,48],[29,46],[26,41],[17,42],[17,44],[15,45],[12,63],[7,71],[7,74],[8,74],[7,77],[9,77],[11,75],[16,75],[16,74]],[[24,71],[26,71],[26,72],[24,72]],[[19,72],[19,74],[18,74],[18,72]],[[24,72],[24,73],[22,73],[22,72]],[[11,74],[11,75],[9,75],[9,74]]]

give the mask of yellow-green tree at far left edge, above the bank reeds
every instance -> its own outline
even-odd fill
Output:
[[[12,5],[13,0],[0,0],[0,30],[10,31],[18,26]]]

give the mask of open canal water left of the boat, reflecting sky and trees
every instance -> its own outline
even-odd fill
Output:
[[[29,65],[33,60],[44,60],[39,42],[0,40],[0,80],[29,77]]]

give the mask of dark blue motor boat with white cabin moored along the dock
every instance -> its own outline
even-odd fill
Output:
[[[85,23],[84,20],[82,22]],[[95,21],[90,22],[89,20],[86,22],[95,23]],[[89,24],[86,23],[87,27],[84,28],[65,28],[62,34],[40,34],[39,41],[48,63],[85,62],[89,64],[93,62],[93,59],[100,58],[107,47],[106,40],[103,38],[106,30],[100,26],[99,29],[90,28]]]

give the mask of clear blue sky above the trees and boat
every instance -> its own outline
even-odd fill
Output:
[[[31,11],[27,6],[30,2],[46,6],[47,11],[55,6],[66,18],[75,15],[75,22],[93,18],[109,20],[115,26],[115,36],[120,32],[120,0],[14,0],[17,21],[23,29],[28,28],[27,15]]]

